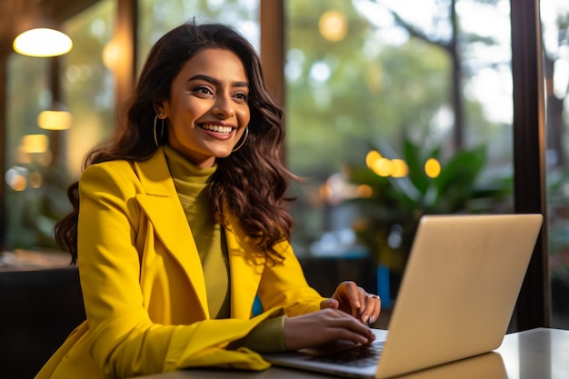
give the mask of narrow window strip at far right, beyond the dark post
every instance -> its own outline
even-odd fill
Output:
[[[569,5],[542,0],[552,326],[569,329]]]

